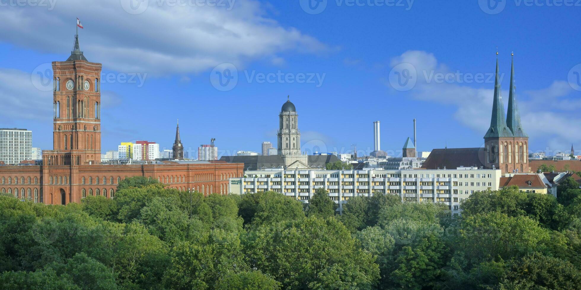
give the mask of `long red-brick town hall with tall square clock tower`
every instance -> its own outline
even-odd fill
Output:
[[[87,61],[75,35],[69,59],[53,61],[52,68],[53,150],[43,152],[42,165],[0,166],[1,193],[64,205],[87,195],[114,197],[120,180],[145,176],[178,190],[227,194],[228,179],[243,176],[243,164],[225,162],[99,165],[101,64]],[[179,136],[177,128],[176,142],[183,148]],[[177,159],[183,159],[182,154]]]

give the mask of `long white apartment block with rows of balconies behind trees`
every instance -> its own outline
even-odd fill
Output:
[[[457,169],[428,170],[309,170],[284,171],[267,169],[245,171],[245,177],[232,178],[232,194],[277,191],[309,202],[318,188],[329,191],[331,200],[342,210],[350,197],[373,193],[397,194],[402,201],[442,202],[453,214],[460,213],[460,203],[472,193],[498,190],[500,169],[459,167]]]

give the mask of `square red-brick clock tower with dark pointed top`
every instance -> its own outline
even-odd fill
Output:
[[[46,165],[101,162],[101,64],[87,61],[75,35],[66,61],[53,61],[53,150]]]

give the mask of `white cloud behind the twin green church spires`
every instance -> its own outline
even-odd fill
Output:
[[[432,53],[419,50],[409,50],[390,61],[392,67],[400,63],[410,63],[417,71],[417,83],[409,91],[412,97],[454,106],[454,118],[476,132],[486,131],[490,125],[494,95],[494,78],[490,79],[489,75],[494,71],[463,72],[457,77],[458,71],[439,64]],[[515,71],[518,78],[518,68]],[[438,73],[454,77],[450,78],[452,81],[437,82],[433,75]],[[466,82],[467,74],[478,73],[484,76],[481,82]],[[500,73],[507,80],[510,77],[510,73]],[[565,81],[554,81],[548,88],[525,90],[522,94],[517,87],[521,120],[531,139],[530,150],[568,150],[571,143],[581,143],[581,118],[575,111],[581,108],[581,100],[572,96],[574,93]],[[502,96],[507,106],[508,90],[503,90]]]

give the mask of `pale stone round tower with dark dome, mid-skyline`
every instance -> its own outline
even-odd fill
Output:
[[[289,97],[282,104],[278,117],[278,155],[300,155],[299,114]]]

